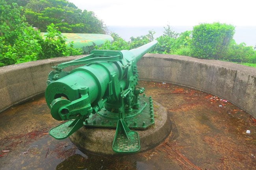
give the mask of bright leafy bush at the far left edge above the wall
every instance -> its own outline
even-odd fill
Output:
[[[22,7],[0,0],[0,66],[37,60],[42,38],[20,15]]]

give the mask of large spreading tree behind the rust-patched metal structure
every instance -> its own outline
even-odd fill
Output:
[[[105,33],[92,11],[78,9],[67,0],[29,0],[24,6],[27,22],[45,32],[53,23],[62,33]]]

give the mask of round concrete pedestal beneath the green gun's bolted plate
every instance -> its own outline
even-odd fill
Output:
[[[157,102],[154,104],[155,124],[146,130],[135,130],[139,133],[140,152],[154,148],[160,144],[171,132],[171,121],[166,109]],[[80,150],[95,154],[115,155],[112,143],[115,129],[82,127],[70,136],[70,140]]]

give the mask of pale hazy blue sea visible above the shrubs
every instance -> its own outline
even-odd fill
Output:
[[[109,31],[117,33],[124,40],[129,41],[130,37],[138,37],[146,35],[148,31],[153,30],[156,32],[154,38],[160,37],[163,34],[163,27],[125,27],[125,26],[108,26]],[[172,29],[178,33],[189,31],[193,26],[172,26]],[[234,40],[237,44],[244,42],[247,46],[256,45],[256,26],[237,26]]]

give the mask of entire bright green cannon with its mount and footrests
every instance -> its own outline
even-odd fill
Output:
[[[153,125],[154,111],[151,97],[141,95],[144,88],[137,87],[136,63],[157,43],[129,51],[93,50],[86,57],[52,67],[55,70],[48,75],[45,100],[52,117],[65,122],[49,134],[65,139],[82,126],[116,128],[113,151],[139,151],[139,135],[130,128],[143,130]],[[70,72],[63,71],[78,65]]]

